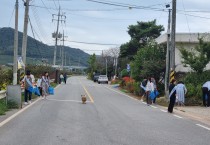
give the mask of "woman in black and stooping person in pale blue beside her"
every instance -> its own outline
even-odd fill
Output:
[[[169,98],[170,103],[168,106],[168,112],[172,113],[175,103],[177,102],[178,105],[183,106],[185,103],[185,95],[187,93],[187,88],[184,85],[184,82],[179,81],[176,84],[176,80],[173,79],[169,86]]]

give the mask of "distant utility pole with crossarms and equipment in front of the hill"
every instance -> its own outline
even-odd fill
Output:
[[[59,24],[60,24],[60,22],[64,22],[65,23],[66,16],[63,15],[63,14],[60,14],[60,6],[59,6],[58,15],[53,14],[52,16],[53,16],[52,21],[57,21],[57,30],[56,30],[55,33],[53,33],[53,38],[55,38],[55,49],[54,49],[53,65],[56,65],[56,53],[57,53],[58,38],[62,37],[62,35],[60,33],[58,34]],[[58,19],[54,19],[54,16],[57,16]]]

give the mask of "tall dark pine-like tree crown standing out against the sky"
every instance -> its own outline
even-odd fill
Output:
[[[131,40],[120,46],[120,57],[128,57],[132,60],[137,51],[147,44],[147,40],[159,37],[162,31],[164,31],[164,27],[157,25],[156,20],[130,25],[128,34]],[[139,42],[140,40],[142,43]]]

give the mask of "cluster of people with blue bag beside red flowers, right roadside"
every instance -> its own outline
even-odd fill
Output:
[[[148,79],[144,79],[141,83],[141,88],[143,92],[142,101],[146,97],[147,105],[155,104],[158,93],[155,78],[149,77]],[[154,97],[151,97],[151,93],[154,93]]]

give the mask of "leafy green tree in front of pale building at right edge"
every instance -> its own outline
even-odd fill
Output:
[[[197,73],[202,73],[206,65],[210,61],[210,43],[204,42],[202,38],[198,38],[199,44],[192,50],[181,48],[182,63],[186,67],[190,67]]]

